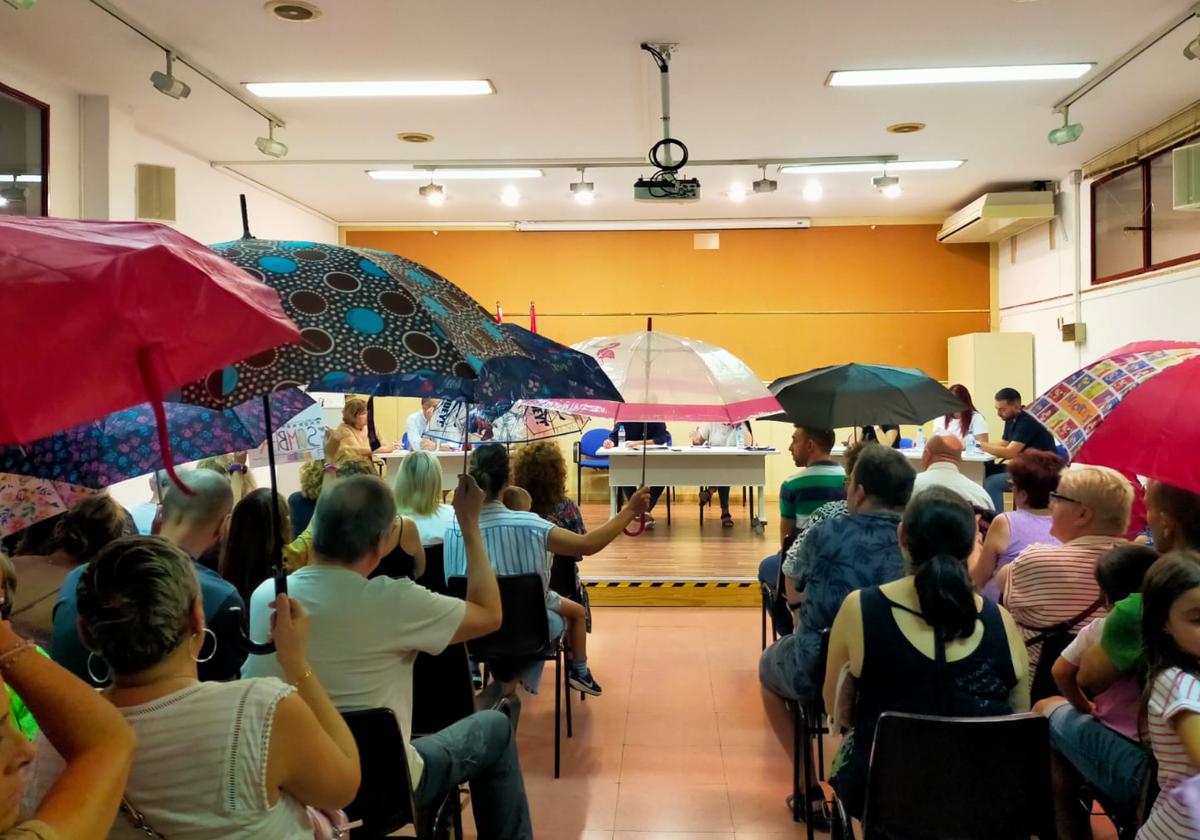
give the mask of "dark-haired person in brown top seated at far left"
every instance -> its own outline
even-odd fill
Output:
[[[125,509],[107,493],[77,502],[54,524],[40,554],[17,554],[13,565],[25,586],[13,601],[18,631],[46,643],[54,625],[54,596],[64,575],[78,569],[125,533]],[[78,674],[77,674],[78,676]]]

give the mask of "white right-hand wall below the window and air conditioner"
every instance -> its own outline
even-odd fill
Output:
[[[1063,342],[1058,319],[1074,320],[1074,197],[1060,184],[1058,217],[1052,247],[1048,226],[997,244],[1000,263],[1000,329],[1034,336],[1034,383],[1038,392],[1100,354],[1132,341],[1200,340],[1200,263],[1164,269],[1127,281],[1091,284],[1090,196],[1081,194],[1082,322],[1087,342]]]

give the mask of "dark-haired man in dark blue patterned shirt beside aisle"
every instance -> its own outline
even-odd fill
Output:
[[[908,460],[894,449],[869,445],[859,454],[846,491],[850,515],[827,520],[804,536],[798,562],[808,578],[799,623],[758,660],[758,679],[769,691],[802,703],[815,700],[824,674],[822,637],[846,595],[904,575],[896,528],[914,478]]]

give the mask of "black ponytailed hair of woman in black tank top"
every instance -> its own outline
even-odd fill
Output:
[[[913,497],[904,516],[920,613],[942,638],[967,638],[978,610],[967,575],[976,542],[974,512],[955,493],[931,487]]]

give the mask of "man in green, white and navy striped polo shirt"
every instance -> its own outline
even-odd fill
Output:
[[[796,426],[788,451],[792,461],[803,469],[784,480],[779,487],[779,545],[778,553],[758,564],[758,580],[774,586],[779,580],[779,564],[794,534],[803,532],[812,512],[826,502],[846,498],[846,472],[829,457],[836,438],[832,428]],[[775,607],[776,605],[772,605]],[[792,617],[786,605],[772,608],[775,632],[792,631]]]

